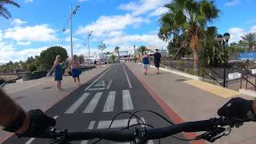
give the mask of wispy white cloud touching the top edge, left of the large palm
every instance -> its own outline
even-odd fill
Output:
[[[121,10],[131,10],[133,15],[144,14],[150,10],[158,9],[160,6],[171,2],[171,0],[139,0],[119,6]]]

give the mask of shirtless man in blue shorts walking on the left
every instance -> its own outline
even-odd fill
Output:
[[[77,79],[78,79],[78,84],[80,84],[80,68],[79,68],[79,63],[78,63],[78,57],[77,55],[74,55],[70,61],[70,71],[72,74],[72,77],[74,78],[74,83],[77,84]]]

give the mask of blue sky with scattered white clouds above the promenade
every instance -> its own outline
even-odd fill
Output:
[[[81,6],[73,19],[74,54],[88,54],[84,46],[90,38],[91,53],[98,52],[103,41],[107,51],[114,46],[132,50],[134,45],[166,47],[158,39],[158,18],[171,0],[16,0],[21,8],[7,6],[12,19],[0,18],[0,63],[25,60],[40,54],[49,46],[64,46],[70,53],[69,26],[62,28],[70,14],[70,3]],[[230,32],[231,42],[242,34],[256,32],[254,0],[216,0],[220,17],[209,26],[217,26],[220,34]]]

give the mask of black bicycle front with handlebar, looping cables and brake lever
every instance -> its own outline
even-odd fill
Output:
[[[150,113],[158,115],[160,118],[170,123],[170,126],[162,128],[154,128],[150,124],[146,124],[136,114],[140,111],[148,111]],[[130,119],[127,123],[127,127],[121,130],[110,130],[114,119],[119,114],[130,114]],[[149,140],[173,137],[182,141],[196,141],[206,140],[208,142],[214,142],[222,136],[227,136],[231,132],[231,127],[241,122],[233,118],[210,118],[208,120],[196,121],[196,122],[184,122],[174,124],[168,119],[164,118],[161,114],[158,114],[152,110],[138,110],[134,113],[122,112],[114,116],[113,121],[110,123],[109,129],[104,130],[84,130],[84,131],[70,131],[70,130],[56,130],[51,129],[43,132],[42,134],[35,135],[34,138],[50,138],[51,143],[58,144],[70,144],[73,141],[92,140],[98,138],[94,143],[100,142],[102,139],[115,141],[115,142],[130,142],[134,144],[146,144]],[[136,117],[139,120],[138,124],[130,126],[131,118]],[[181,132],[205,132],[192,139],[178,138],[174,134]],[[23,135],[22,137],[26,137]]]

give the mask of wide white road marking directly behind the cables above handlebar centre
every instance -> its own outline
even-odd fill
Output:
[[[126,127],[128,121],[129,121],[129,119],[114,120],[114,122],[111,125],[111,128]],[[111,122],[112,122],[112,120],[110,120],[110,121],[100,121],[100,122],[98,122],[97,129],[108,129]],[[130,125],[134,125],[134,124],[137,124],[137,123],[138,122],[137,122],[136,118],[132,118],[130,120]]]

